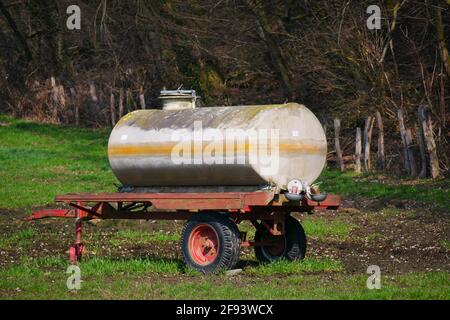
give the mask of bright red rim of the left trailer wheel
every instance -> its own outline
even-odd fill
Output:
[[[199,224],[189,235],[189,253],[201,266],[212,263],[219,254],[219,237],[209,224]]]

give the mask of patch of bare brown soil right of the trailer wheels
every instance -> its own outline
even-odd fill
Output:
[[[335,215],[321,213],[312,218],[339,217],[355,228],[339,240],[309,239],[309,254],[341,260],[348,273],[364,273],[370,265],[391,274],[450,272],[450,214],[414,202],[358,203],[361,209],[347,201]]]

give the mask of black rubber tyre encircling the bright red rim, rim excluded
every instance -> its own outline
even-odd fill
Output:
[[[208,265],[197,264],[189,250],[189,236],[199,224],[208,224],[217,233],[219,252],[216,259]],[[194,268],[201,273],[211,274],[221,270],[232,269],[239,261],[241,251],[241,240],[239,229],[233,221],[221,213],[198,213],[195,214],[183,228],[181,235],[181,253],[188,267]]]

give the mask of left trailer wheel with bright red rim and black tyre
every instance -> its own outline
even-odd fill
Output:
[[[187,266],[204,274],[231,269],[239,261],[239,230],[226,215],[196,214],[184,226],[181,252]]]

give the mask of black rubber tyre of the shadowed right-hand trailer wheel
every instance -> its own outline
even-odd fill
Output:
[[[269,231],[256,230],[255,242],[261,241],[264,237],[273,237],[269,234]],[[300,222],[294,217],[287,217],[285,224],[285,250],[283,254],[279,256],[271,255],[266,248],[262,246],[255,247],[255,255],[260,262],[273,262],[280,259],[285,259],[289,261],[303,260],[306,254],[306,234]]]

